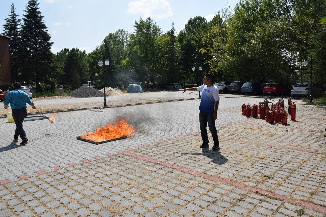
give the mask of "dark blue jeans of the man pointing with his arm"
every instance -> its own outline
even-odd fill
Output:
[[[208,145],[208,136],[207,136],[207,123],[208,123],[209,131],[211,131],[212,133],[214,146],[219,146],[218,135],[217,135],[217,130],[215,128],[215,121],[213,119],[213,114],[200,111],[199,123],[200,123],[200,132],[201,132],[201,138],[203,143]]]

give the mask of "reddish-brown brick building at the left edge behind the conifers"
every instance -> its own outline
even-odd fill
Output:
[[[10,85],[10,57],[9,57],[10,37],[0,35],[0,85]]]

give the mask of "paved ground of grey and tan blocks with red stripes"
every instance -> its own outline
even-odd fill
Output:
[[[58,113],[25,122],[23,147],[0,119],[0,217],[325,217],[325,108],[298,105],[288,126],[241,115],[259,101],[222,95],[220,152],[199,148],[199,100]],[[76,140],[117,116],[137,134]]]

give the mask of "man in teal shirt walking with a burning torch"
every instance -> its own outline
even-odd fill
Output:
[[[28,139],[26,137],[25,130],[23,128],[23,121],[27,116],[26,103],[30,104],[33,109],[36,109],[33,101],[29,98],[29,95],[24,91],[21,91],[21,84],[19,82],[14,83],[15,90],[8,92],[6,99],[4,100],[4,108],[7,109],[10,103],[12,109],[13,119],[16,124],[14,142],[17,142],[18,136],[22,139],[20,145],[26,145]]]

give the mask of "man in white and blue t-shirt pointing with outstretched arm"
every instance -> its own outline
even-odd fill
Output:
[[[212,133],[214,145],[212,150],[219,151],[219,141],[217,130],[215,128],[215,120],[217,119],[217,110],[219,104],[219,90],[216,86],[214,86],[214,74],[206,73],[206,76],[203,80],[203,85],[200,87],[193,87],[193,88],[183,88],[179,89],[179,91],[197,91],[199,90],[202,92],[201,101],[199,106],[199,123],[200,123],[200,132],[202,138],[202,145],[201,148],[208,148],[208,136],[207,136],[207,123],[208,128]]]

